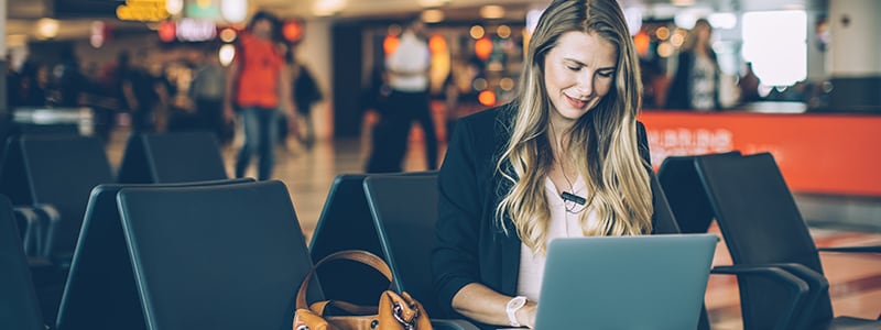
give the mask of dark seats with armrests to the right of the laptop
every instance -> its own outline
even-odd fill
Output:
[[[746,329],[881,329],[879,320],[834,317],[819,251],[879,253],[881,246],[817,249],[770,153],[668,157],[659,169],[683,232],[715,219],[738,274]]]

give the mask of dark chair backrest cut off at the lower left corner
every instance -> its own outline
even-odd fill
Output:
[[[28,257],[12,204],[0,195],[0,324],[3,329],[43,330]]]

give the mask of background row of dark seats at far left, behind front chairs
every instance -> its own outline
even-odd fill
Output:
[[[74,134],[24,134],[7,140],[0,194],[15,206],[37,294],[54,319],[90,190],[113,183],[176,183],[227,178],[207,132],[134,134],[115,177],[104,143]]]

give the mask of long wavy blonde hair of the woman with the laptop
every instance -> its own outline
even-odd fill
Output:
[[[565,150],[588,188],[588,210],[579,213],[586,235],[635,235],[651,232],[652,193],[648,164],[639,154],[637,113],[642,92],[639,62],[623,13],[614,0],[555,0],[542,14],[529,44],[511,140],[497,163],[510,187],[497,206],[498,224],[510,218],[518,235],[537,253],[546,249],[551,211],[544,193],[554,156],[547,138],[548,111],[544,59],[561,35],[579,31],[598,35],[618,51],[614,85],[595,109],[566,133]],[[599,223],[588,226],[590,209]]]

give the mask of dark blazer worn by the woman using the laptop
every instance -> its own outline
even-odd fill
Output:
[[[505,187],[496,162],[511,136],[514,111],[505,105],[459,119],[438,174],[432,273],[446,317],[458,317],[452,308],[453,296],[467,284],[481,283],[509,296],[516,293],[521,241],[515,232],[507,235],[494,224],[496,206]],[[645,129],[638,125],[640,155],[648,162]]]

